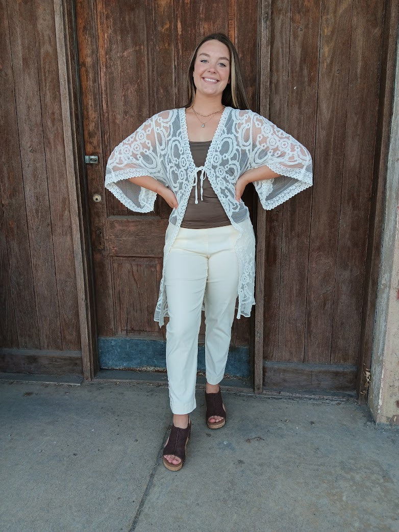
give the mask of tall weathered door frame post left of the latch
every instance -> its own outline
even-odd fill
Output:
[[[54,0],[54,16],[83,377],[91,381],[99,365],[74,2]]]

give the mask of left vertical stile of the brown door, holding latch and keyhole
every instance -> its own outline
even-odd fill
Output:
[[[92,244],[96,242],[96,230],[102,231],[105,247],[93,249],[94,282],[97,311],[98,334],[113,336],[112,280],[107,248],[108,234],[105,201],[95,203],[93,195],[104,194],[104,166],[102,153],[102,119],[98,94],[98,49],[97,17],[93,0],[76,2],[77,38],[79,47],[79,76],[81,84],[83,131],[86,153],[98,155],[98,164],[86,165],[90,234]]]

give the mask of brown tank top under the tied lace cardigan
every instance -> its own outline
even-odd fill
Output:
[[[197,167],[205,164],[206,154],[210,145],[211,140],[206,142],[190,142],[194,164]],[[202,185],[201,201],[201,171],[198,171],[197,174],[197,200],[198,203],[195,203],[194,186],[191,189],[186,212],[180,227],[186,229],[207,229],[209,227],[222,227],[231,224],[225,209],[223,209],[206,175]]]

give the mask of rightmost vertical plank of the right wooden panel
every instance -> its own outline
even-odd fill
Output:
[[[331,363],[358,357],[383,15],[377,0],[354,2]]]

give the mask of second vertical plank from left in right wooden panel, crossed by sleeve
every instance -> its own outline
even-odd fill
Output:
[[[320,1],[291,1],[287,131],[314,153]],[[279,361],[304,359],[306,280],[312,189],[284,204]]]

